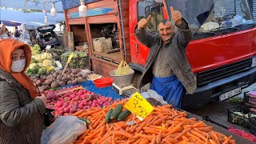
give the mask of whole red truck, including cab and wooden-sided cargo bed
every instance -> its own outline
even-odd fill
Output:
[[[75,17],[78,6],[65,10],[66,27],[76,35],[82,27],[86,31],[84,39],[89,43],[92,69],[96,73],[109,76],[110,70],[116,69],[121,60],[129,62],[136,74],[141,73],[150,49],[138,42],[134,28],[141,18],[152,15],[146,30],[158,32],[158,23],[170,18],[170,6],[174,6],[194,32],[186,55],[197,78],[198,89],[182,98],[184,108],[198,108],[216,98],[224,101],[256,82],[256,15],[253,13],[256,2],[102,0],[86,3],[86,6],[86,18]],[[102,13],[94,14],[95,10],[102,10]],[[85,26],[79,29],[78,23]],[[108,25],[113,26],[110,37],[112,41],[115,38],[120,51],[101,54],[94,50],[92,41],[102,32],[102,27]]]

